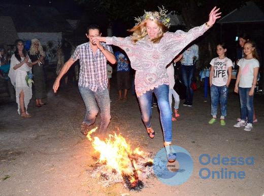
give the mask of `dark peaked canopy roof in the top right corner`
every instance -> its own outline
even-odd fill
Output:
[[[264,13],[253,2],[247,2],[245,6],[236,9],[222,17],[217,23],[248,23],[264,22]]]

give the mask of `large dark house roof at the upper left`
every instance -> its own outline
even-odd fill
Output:
[[[10,16],[17,32],[62,32],[70,24],[54,7],[0,4],[0,16]]]

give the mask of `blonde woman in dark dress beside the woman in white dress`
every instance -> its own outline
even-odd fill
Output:
[[[36,107],[41,107],[45,105],[42,102],[42,99],[46,97],[45,92],[45,77],[44,77],[44,59],[45,52],[41,46],[41,43],[37,39],[31,40],[31,46],[29,50],[29,57],[32,61],[32,72],[34,74],[33,81],[35,87],[35,99],[36,99]]]

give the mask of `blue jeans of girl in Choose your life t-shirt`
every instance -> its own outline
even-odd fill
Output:
[[[215,86],[212,84],[211,88],[211,115],[217,114],[217,106],[220,101],[221,116],[226,116],[228,88],[224,86]]]

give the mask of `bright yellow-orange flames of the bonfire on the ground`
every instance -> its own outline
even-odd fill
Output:
[[[96,129],[97,127],[89,131],[86,137],[92,141],[92,146],[95,151],[100,153],[98,162],[106,164],[109,169],[115,170],[121,175],[128,175],[129,181],[131,183],[135,182],[135,177],[139,170],[136,161],[131,160],[131,157],[135,154],[141,157],[144,152],[139,148],[131,150],[130,145],[120,134],[117,135],[114,133],[114,135],[109,135],[109,138],[106,138],[105,141],[100,140],[98,137],[91,138],[90,135],[94,133]]]

